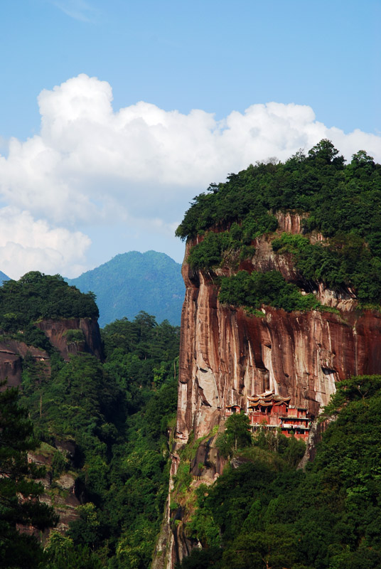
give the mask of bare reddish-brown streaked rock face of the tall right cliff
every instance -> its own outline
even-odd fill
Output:
[[[278,235],[283,231],[302,233],[301,216],[278,213],[277,218]],[[198,439],[223,424],[226,406],[245,408],[247,395],[264,390],[291,395],[294,405],[306,407],[316,417],[334,393],[337,381],[381,373],[381,314],[360,310],[350,289],[337,293],[316,285],[313,292],[333,312],[285,312],[264,307],[262,316],[253,316],[242,308],[220,304],[218,277],[242,269],[277,270],[287,281],[311,292],[311,283],[303,282],[291,255],[277,255],[272,250],[272,238],[274,235],[262,235],[255,240],[252,259],[237,262],[234,268],[230,259],[214,272],[193,270],[188,265],[189,251],[196,243],[188,240],[182,269],[186,298],[172,475],[178,469],[178,450],[190,435]],[[311,235],[311,241],[322,239],[318,233]],[[213,446],[213,441],[210,444]],[[209,477],[212,482],[222,467],[223,461],[215,460],[212,469],[203,470],[203,478]],[[172,530],[166,563],[154,567],[173,568],[176,559],[195,546],[184,537],[181,524],[173,523]]]

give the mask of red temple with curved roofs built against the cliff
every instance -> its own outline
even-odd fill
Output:
[[[311,419],[304,407],[290,405],[291,397],[275,395],[274,391],[265,391],[259,395],[247,397],[245,414],[248,416],[252,432],[260,428],[281,430],[286,437],[294,435],[297,439],[308,439]],[[241,412],[240,405],[227,405],[225,417]]]

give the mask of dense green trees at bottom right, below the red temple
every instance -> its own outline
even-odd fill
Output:
[[[240,467],[198,489],[189,531],[203,549],[181,568],[379,568],[380,410],[381,376],[352,378],[338,384],[325,413],[336,420],[305,470],[271,435],[238,450]]]

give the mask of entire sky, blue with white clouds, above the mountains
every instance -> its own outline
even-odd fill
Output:
[[[321,137],[381,161],[380,21],[378,0],[4,3],[0,269],[181,261],[210,181]]]

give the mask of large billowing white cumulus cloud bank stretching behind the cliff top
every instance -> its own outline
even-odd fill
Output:
[[[43,90],[38,104],[41,132],[24,142],[11,139],[8,156],[0,156],[0,198],[45,220],[46,236],[144,217],[152,235],[155,226],[163,232],[211,181],[269,156],[287,159],[322,138],[347,159],[365,149],[381,161],[381,137],[326,127],[306,105],[257,104],[220,121],[203,110],[184,115],[147,102],[114,111],[109,83],[84,74]],[[62,254],[58,245],[54,250]],[[74,250],[66,254],[67,267]]]

